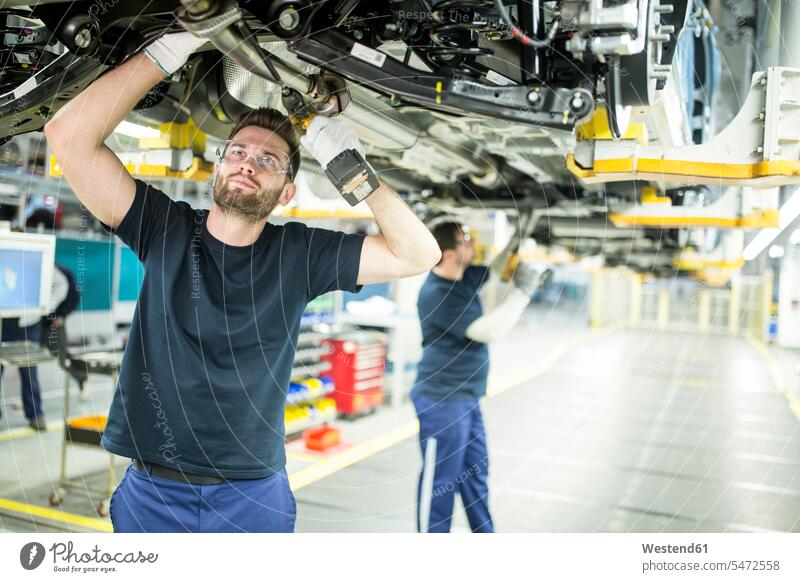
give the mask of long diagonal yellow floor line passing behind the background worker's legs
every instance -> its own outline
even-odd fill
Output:
[[[564,341],[559,347],[550,352],[540,364],[532,369],[526,370],[524,373],[511,376],[503,379],[502,381],[492,382],[487,390],[487,398],[492,398],[498,394],[502,394],[509,388],[518,386],[536,376],[539,376],[552,368],[556,362],[569,350],[574,347],[585,343],[590,339],[595,339],[603,335],[609,334],[613,331],[620,329],[619,326],[613,326],[603,329],[595,329],[586,333],[577,335],[569,340]],[[364,459],[378,454],[386,449],[403,442],[404,440],[414,436],[419,431],[419,423],[416,420],[408,421],[392,430],[378,435],[368,441],[354,445],[353,447],[342,451],[341,453],[320,460],[319,462],[303,467],[291,475],[289,475],[289,484],[293,491],[298,491],[303,487],[307,487],[312,483],[316,483],[320,479],[324,479],[337,471],[341,471],[351,465],[354,465]]]

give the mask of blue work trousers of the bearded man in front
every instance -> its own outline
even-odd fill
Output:
[[[117,533],[292,533],[297,515],[286,470],[262,479],[193,485],[130,465],[111,496]]]

